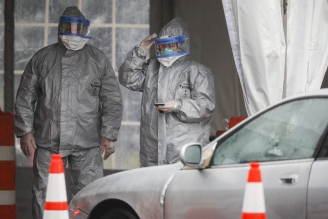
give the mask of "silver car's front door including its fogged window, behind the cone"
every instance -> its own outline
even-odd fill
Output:
[[[165,218],[240,218],[249,163],[257,161],[267,217],[305,219],[309,175],[326,132],[327,107],[326,98],[290,101],[215,140],[208,168],[183,169],[168,185]]]

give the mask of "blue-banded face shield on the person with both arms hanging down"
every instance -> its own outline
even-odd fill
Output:
[[[90,21],[81,17],[61,16],[61,32],[58,35],[79,36],[83,38],[90,37]]]

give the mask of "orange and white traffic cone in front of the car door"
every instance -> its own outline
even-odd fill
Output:
[[[242,204],[242,219],[265,219],[264,192],[259,163],[251,163]]]

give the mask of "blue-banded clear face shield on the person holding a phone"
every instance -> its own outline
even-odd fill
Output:
[[[180,45],[185,43],[185,35],[161,36],[155,39],[155,52],[157,58],[173,57],[188,54]]]

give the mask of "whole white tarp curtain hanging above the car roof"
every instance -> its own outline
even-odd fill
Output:
[[[222,4],[249,115],[282,99],[284,83],[286,96],[320,89],[328,65],[327,1],[289,0],[286,33],[281,0]]]

